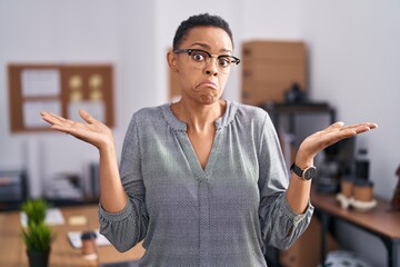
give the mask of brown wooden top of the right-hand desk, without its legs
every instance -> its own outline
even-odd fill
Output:
[[[400,239],[400,211],[392,210],[389,201],[377,198],[378,205],[369,211],[343,209],[334,195],[311,194],[311,204],[319,209],[391,239]]]

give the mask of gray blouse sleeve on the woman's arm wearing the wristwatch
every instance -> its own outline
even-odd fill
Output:
[[[259,189],[261,238],[266,245],[290,247],[308,227],[313,207],[302,215],[292,211],[286,200],[288,170],[273,125],[266,113],[259,148]]]

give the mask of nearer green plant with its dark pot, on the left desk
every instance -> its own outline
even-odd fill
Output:
[[[27,246],[29,266],[47,267],[49,263],[51,243],[54,236],[51,228],[44,221],[30,221],[26,229],[22,229],[23,241]]]

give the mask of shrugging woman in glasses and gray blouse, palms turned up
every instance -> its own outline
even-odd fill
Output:
[[[267,266],[266,246],[288,248],[311,219],[316,155],[377,127],[337,122],[311,135],[289,182],[268,113],[221,99],[240,61],[232,52],[220,17],[182,21],[167,56],[181,99],[133,115],[119,168],[111,130],[88,112],[87,123],[41,113],[99,149],[101,233],[121,251],[144,239],[140,266]]]

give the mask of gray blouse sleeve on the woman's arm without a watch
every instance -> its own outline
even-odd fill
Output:
[[[120,251],[126,251],[142,240],[149,224],[140,155],[138,125],[133,116],[124,138],[120,164],[121,181],[129,197],[128,205],[118,214],[107,212],[99,207],[100,233]]]

